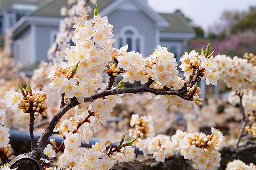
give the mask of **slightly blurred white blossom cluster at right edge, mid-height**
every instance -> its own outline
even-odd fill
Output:
[[[215,56],[220,79],[233,90],[256,89],[256,67],[244,58],[230,58],[226,55]]]

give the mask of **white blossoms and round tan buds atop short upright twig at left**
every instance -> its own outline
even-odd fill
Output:
[[[22,109],[24,113],[34,113],[35,117],[39,114],[47,115],[47,106],[45,100],[47,99],[46,92],[37,91],[31,89],[27,84],[26,90],[20,85],[20,92],[15,92],[14,88],[6,92],[4,101],[6,107],[12,107],[12,109]]]

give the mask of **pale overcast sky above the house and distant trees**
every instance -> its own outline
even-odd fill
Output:
[[[209,30],[225,10],[244,11],[249,6],[256,6],[256,0],[148,0],[148,3],[157,12],[181,9],[205,30]]]

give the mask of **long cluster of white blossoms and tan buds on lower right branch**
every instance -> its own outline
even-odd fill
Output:
[[[138,138],[134,145],[144,155],[153,155],[156,161],[164,162],[177,152],[185,159],[192,160],[195,169],[215,170],[220,166],[221,154],[218,150],[224,145],[224,136],[214,128],[211,135],[177,130],[172,137],[157,135]]]

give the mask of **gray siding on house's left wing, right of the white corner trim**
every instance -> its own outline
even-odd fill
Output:
[[[47,51],[54,40],[54,33],[58,32],[58,27],[54,26],[36,26],[36,60],[38,63],[42,60],[47,61]]]

